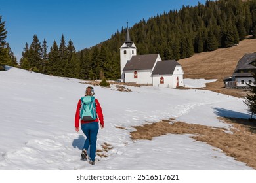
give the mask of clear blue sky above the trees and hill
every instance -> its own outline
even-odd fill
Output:
[[[143,18],[198,2],[205,0],[0,0],[0,15],[8,31],[6,41],[19,61],[33,35],[40,42],[46,39],[49,51],[54,39],[59,44],[63,34],[79,51],[109,39],[126,27],[127,20],[132,27]]]

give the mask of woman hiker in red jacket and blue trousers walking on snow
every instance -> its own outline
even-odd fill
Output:
[[[90,146],[89,163],[91,165],[95,165],[98,122],[100,122],[100,127],[104,128],[102,109],[98,100],[93,97],[94,94],[93,87],[88,86],[85,91],[85,97],[81,97],[77,103],[75,113],[75,131],[79,131],[79,122],[81,122],[81,129],[86,136],[81,159],[87,160],[87,151]],[[91,114],[86,114],[88,110],[90,110]]]

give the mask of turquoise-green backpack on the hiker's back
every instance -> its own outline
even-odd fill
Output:
[[[80,118],[85,122],[96,120],[97,114],[96,114],[95,97],[93,96],[81,97]]]

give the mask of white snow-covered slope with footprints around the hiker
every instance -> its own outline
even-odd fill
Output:
[[[132,141],[132,126],[161,119],[228,128],[217,116],[249,118],[242,99],[149,86],[125,86],[132,92],[95,86],[105,122],[97,148],[109,149],[95,166],[80,161],[85,137],[75,132],[74,116],[88,86],[81,82],[13,67],[0,72],[0,169],[251,169],[190,135]]]

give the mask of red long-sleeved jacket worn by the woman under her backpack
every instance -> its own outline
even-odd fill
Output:
[[[102,114],[102,109],[100,107],[100,103],[98,102],[97,99],[95,99],[95,103],[96,103],[96,113],[97,113],[98,118],[96,120],[94,120],[93,122],[98,122],[98,120],[100,120],[100,124],[104,126],[104,119],[103,119],[103,114]],[[81,99],[79,99],[79,101],[77,103],[77,108],[76,108],[76,112],[75,112],[75,127],[79,127],[80,107],[81,107]],[[81,120],[81,124],[90,123],[90,122],[92,122],[92,121],[85,122],[85,121]]]

